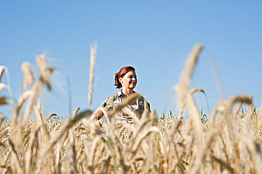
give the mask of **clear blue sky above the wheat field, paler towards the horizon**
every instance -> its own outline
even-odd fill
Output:
[[[117,92],[114,74],[123,66],[134,66],[135,90],[162,114],[167,91],[179,82],[187,55],[195,43],[203,43],[213,55],[225,97],[253,94],[260,106],[261,9],[259,0],[1,0],[0,64],[9,69],[17,100],[21,63],[28,61],[36,72],[35,56],[45,53],[49,65],[58,67],[53,91],[44,90],[46,114],[59,116],[68,113],[63,69],[71,81],[73,109],[95,109]],[[98,53],[89,106],[89,51],[94,41]],[[2,82],[6,83],[5,77]],[[205,50],[191,87],[204,88],[214,109],[219,95]],[[7,90],[1,95],[7,95]],[[194,96],[199,109],[207,113],[203,94]],[[176,111],[175,99],[173,92],[166,111]],[[6,114],[9,110],[9,106],[0,106]]]

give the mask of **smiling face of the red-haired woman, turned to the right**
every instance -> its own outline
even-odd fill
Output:
[[[131,70],[129,71],[124,77],[119,78],[120,83],[122,84],[123,88],[135,88],[137,79],[136,79],[136,73]]]

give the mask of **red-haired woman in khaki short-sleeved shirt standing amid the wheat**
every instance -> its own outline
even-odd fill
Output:
[[[119,72],[115,74],[115,84],[116,88],[121,88],[117,93],[110,95],[106,98],[104,102],[92,113],[90,119],[98,120],[103,117],[103,112],[100,108],[105,109],[105,111],[109,111],[110,109],[115,109],[119,103],[122,103],[126,97],[133,94],[135,91],[133,90],[137,84],[137,76],[135,73],[135,69],[133,67],[127,66],[120,69]],[[127,105],[130,109],[132,109],[138,118],[141,117],[145,107],[148,107],[150,111],[150,105],[146,101],[144,104],[145,98],[139,97],[133,103]],[[116,125],[122,123],[133,123],[133,119],[131,116],[127,115],[123,111],[120,111],[116,114]]]

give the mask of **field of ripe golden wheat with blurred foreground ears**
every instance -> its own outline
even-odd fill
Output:
[[[44,55],[37,56],[40,75],[34,80],[30,64],[23,63],[24,92],[16,105],[8,82],[0,81],[0,91],[9,91],[11,108],[11,121],[3,114],[0,118],[0,173],[262,173],[262,114],[252,96],[221,101],[208,117],[198,111],[193,93],[205,91],[191,89],[190,80],[201,50],[201,44],[194,47],[175,87],[177,115],[158,117],[145,110],[140,120],[125,107],[139,97],[132,95],[118,109],[132,116],[134,124],[120,127],[114,124],[118,110],[104,111],[102,128],[87,118],[90,111],[78,112],[80,108],[69,118],[45,116],[38,97],[43,85],[51,89],[55,68],[48,66]],[[8,70],[0,66],[0,80],[4,75]],[[0,104],[7,104],[1,95]],[[247,109],[242,109],[243,104]],[[187,116],[182,115],[185,107],[190,111]]]

